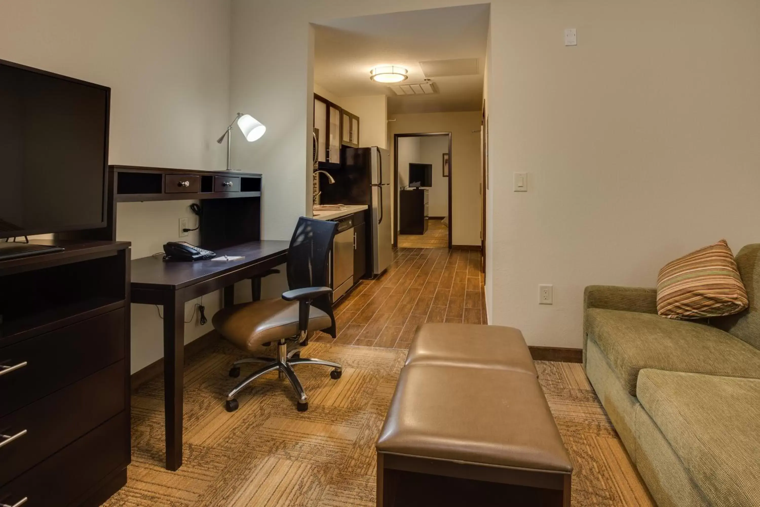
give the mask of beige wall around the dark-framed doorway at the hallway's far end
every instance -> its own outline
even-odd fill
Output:
[[[394,115],[388,122],[393,154],[395,134],[451,132],[451,243],[480,245],[480,111]],[[399,164],[401,167],[401,164]]]

